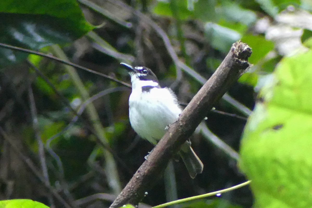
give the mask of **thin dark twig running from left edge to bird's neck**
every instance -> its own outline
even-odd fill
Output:
[[[25,49],[25,48],[20,48],[20,47],[17,47],[17,46],[12,46],[12,45],[7,45],[7,44],[4,44],[4,43],[0,43],[0,47],[2,48],[7,48],[7,49],[12,49],[12,50],[16,50],[16,51],[22,51],[22,52],[25,52],[25,53],[29,53],[29,54],[35,54],[35,55],[38,55],[38,56],[42,56],[42,57],[46,57],[48,59],[52,59],[54,61],[57,61],[57,62],[60,62],[62,64],[66,64],[66,65],[69,65],[69,66],[72,66],[72,67],[75,67],[77,69],[82,69],[82,70],[85,70],[87,72],[90,72],[90,73],[94,73],[94,74],[97,74],[101,77],[105,77],[107,79],[110,79],[114,82],[117,82],[119,84],[122,84],[124,86],[127,86],[127,87],[131,87],[131,85],[129,85],[128,83],[125,83],[123,81],[120,81],[118,79],[115,79],[113,77],[110,77],[106,74],[103,74],[103,73],[100,73],[100,72],[97,72],[97,71],[94,71],[94,70],[91,70],[91,69],[88,69],[86,67],[83,67],[83,66],[80,66],[78,64],[74,64],[74,63],[71,63],[70,61],[66,61],[66,60],[63,60],[63,59],[59,59],[55,56],[52,56],[52,55],[49,55],[49,54],[44,54],[44,53],[41,53],[41,52],[37,52],[37,51],[34,51],[34,50],[28,50],[28,49]]]

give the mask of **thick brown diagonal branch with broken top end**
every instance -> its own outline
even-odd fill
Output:
[[[178,152],[181,145],[193,134],[205,115],[211,110],[229,87],[250,66],[248,57],[251,48],[238,41],[231,47],[221,65],[210,79],[193,97],[181,113],[178,121],[173,123],[163,138],[158,142],[149,157],[137,170],[124,190],[117,196],[110,208],[124,204],[136,205],[166,168],[170,158]]]

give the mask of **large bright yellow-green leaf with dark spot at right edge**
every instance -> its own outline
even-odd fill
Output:
[[[281,60],[259,93],[239,166],[255,207],[312,207],[312,51]]]

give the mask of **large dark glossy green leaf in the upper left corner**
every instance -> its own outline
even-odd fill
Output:
[[[0,1],[0,42],[39,50],[76,40],[94,27],[75,0]],[[28,54],[0,49],[0,66],[17,63]]]

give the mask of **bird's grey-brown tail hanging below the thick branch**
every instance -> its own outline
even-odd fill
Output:
[[[195,154],[189,141],[186,141],[182,145],[179,154],[186,168],[188,169],[188,173],[190,174],[191,178],[195,178],[198,173],[202,173],[204,165],[202,164],[202,161],[200,161],[198,156]]]

